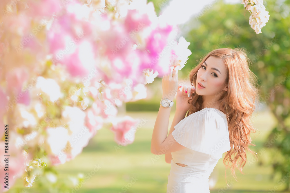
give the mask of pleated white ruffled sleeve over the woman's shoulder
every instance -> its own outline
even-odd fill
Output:
[[[231,149],[226,115],[214,108],[195,112],[175,125],[172,135],[181,145],[221,158]]]

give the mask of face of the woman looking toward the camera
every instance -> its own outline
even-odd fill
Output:
[[[226,65],[222,59],[210,56],[197,71],[195,92],[216,98],[222,90],[228,90],[226,78]]]

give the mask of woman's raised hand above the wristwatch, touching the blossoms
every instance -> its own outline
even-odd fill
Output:
[[[168,98],[173,101],[178,86],[178,70],[171,66],[168,74],[162,78],[162,98]]]

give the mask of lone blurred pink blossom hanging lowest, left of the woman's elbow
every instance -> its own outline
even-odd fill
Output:
[[[133,143],[138,123],[139,120],[134,120],[129,116],[125,116],[121,120],[113,120],[111,130],[115,132],[115,141],[122,146]]]

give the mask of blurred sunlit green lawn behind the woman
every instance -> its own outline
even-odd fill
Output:
[[[150,152],[151,135],[157,112],[129,112],[126,115],[146,119],[146,124],[136,132],[133,144],[116,149],[118,145],[114,142],[114,134],[108,129],[102,129],[74,160],[56,167],[60,179],[67,179],[68,176],[76,176],[78,173],[86,175],[93,171],[95,165],[101,167],[85,180],[77,193],[166,192],[170,164],[165,163],[164,155],[153,155]],[[172,119],[173,114],[170,117],[170,125]],[[254,117],[253,123],[260,132],[259,135],[256,133],[258,136],[253,139],[253,142],[257,148],[262,148],[265,138],[274,125],[274,119],[270,113],[260,112]],[[249,155],[249,159],[252,158]],[[285,188],[284,184],[278,184],[278,180],[271,179],[271,167],[258,166],[257,161],[253,161],[252,164],[247,163],[243,170],[244,174],[236,172],[238,181],[233,179],[228,170],[229,187],[226,185],[224,171],[225,166],[220,159],[211,175],[216,180],[211,193],[270,192],[275,188],[277,192]],[[17,184],[9,192],[17,192],[16,190],[22,187],[21,184],[21,180],[17,180]],[[125,187],[126,185],[128,188]],[[25,190],[27,193],[38,192],[35,188],[25,188]]]

